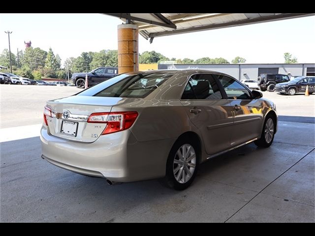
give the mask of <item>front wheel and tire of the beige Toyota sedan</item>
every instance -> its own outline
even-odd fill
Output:
[[[257,147],[268,148],[275,137],[276,119],[273,116],[267,116],[264,122],[264,126],[261,132],[261,136],[258,140],[254,141]]]

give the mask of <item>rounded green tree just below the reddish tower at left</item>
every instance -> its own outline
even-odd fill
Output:
[[[47,52],[40,48],[28,47],[23,55],[23,63],[32,71],[45,66]]]

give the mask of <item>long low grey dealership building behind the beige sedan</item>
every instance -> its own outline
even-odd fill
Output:
[[[165,65],[158,65],[162,69]],[[173,64],[167,69],[205,69],[223,72],[238,80],[251,79],[263,73],[285,74],[289,77],[306,75],[315,76],[315,63],[283,63],[283,64]]]

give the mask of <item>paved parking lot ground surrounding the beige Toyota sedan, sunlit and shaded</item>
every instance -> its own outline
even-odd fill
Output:
[[[315,94],[263,92],[280,116],[273,145],[213,158],[175,191],[158,180],[109,186],[40,158],[45,101],[78,91],[0,86],[0,222],[315,222]]]

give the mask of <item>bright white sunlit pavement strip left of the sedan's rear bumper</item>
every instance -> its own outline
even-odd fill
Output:
[[[24,125],[0,129],[0,143],[39,136],[42,124]]]

